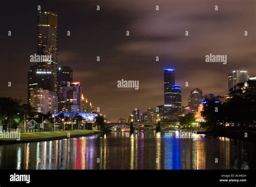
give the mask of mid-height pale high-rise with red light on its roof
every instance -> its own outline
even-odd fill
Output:
[[[81,111],[81,86],[80,82],[72,82],[59,88],[59,111],[79,112]]]

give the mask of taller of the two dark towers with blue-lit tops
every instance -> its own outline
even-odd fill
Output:
[[[171,68],[164,69],[164,105],[171,106],[171,89],[175,84],[175,70]]]

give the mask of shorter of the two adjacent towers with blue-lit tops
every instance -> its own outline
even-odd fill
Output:
[[[172,113],[181,112],[181,88],[180,85],[171,87]]]

